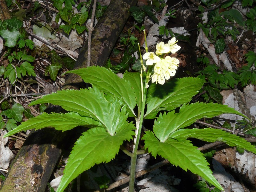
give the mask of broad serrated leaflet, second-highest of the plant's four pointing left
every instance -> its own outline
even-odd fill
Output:
[[[122,102],[117,99],[112,100],[111,103],[108,102],[104,93],[96,87],[94,89],[57,91],[57,93],[45,95],[41,99],[33,101],[30,105],[39,103],[60,105],[67,111],[77,112],[81,116],[89,116],[103,124],[111,135],[128,123],[126,121],[128,117],[126,105],[121,108]]]

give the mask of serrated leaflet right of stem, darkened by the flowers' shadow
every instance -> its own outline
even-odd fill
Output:
[[[185,77],[172,79],[164,85],[150,84],[146,100],[147,113],[144,117],[153,119],[158,111],[171,111],[189,102],[204,83],[205,81],[200,78]]]

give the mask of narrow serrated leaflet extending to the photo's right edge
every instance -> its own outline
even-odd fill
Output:
[[[225,132],[221,129],[213,129],[213,128],[205,128],[205,129],[180,129],[178,131],[173,132],[170,135],[170,138],[177,140],[186,140],[188,138],[196,138],[200,140],[204,140],[207,142],[215,142],[222,141],[229,145],[230,147],[239,147],[251,151],[252,153],[256,153],[255,146],[251,145],[245,139],[231,134],[229,132]]]

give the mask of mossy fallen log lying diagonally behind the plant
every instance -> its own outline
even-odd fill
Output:
[[[92,33],[91,65],[104,66],[137,0],[112,0]],[[82,49],[75,69],[86,67],[87,45]],[[81,88],[83,81],[70,74],[62,89]],[[50,109],[56,111],[58,108]],[[61,154],[61,145],[69,134],[46,128],[32,131],[21,147],[0,192],[43,192]]]

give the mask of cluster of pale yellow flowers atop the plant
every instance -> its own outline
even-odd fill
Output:
[[[143,59],[147,60],[146,65],[153,65],[155,63],[154,74],[151,76],[152,83],[164,84],[165,80],[175,75],[180,61],[169,56],[163,59],[159,55],[177,52],[180,49],[180,46],[176,44],[177,42],[175,37],[173,37],[167,44],[164,44],[164,42],[158,43],[156,45],[156,54],[154,52],[146,52],[143,55]]]

